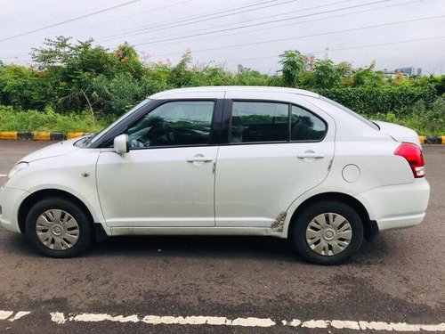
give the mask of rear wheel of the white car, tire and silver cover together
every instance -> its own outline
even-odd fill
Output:
[[[363,240],[363,224],[353,208],[322,201],[295,218],[292,240],[304,259],[318,265],[336,265],[352,257]]]

